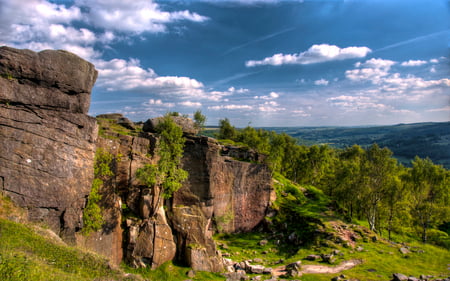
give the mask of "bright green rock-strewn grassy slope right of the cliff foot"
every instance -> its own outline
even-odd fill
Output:
[[[282,205],[291,206],[297,202],[299,206],[296,207],[297,220],[304,220],[307,217],[320,218],[323,225],[317,224],[318,229],[325,230],[328,234],[327,238],[319,238],[313,243],[305,243],[304,246],[295,247],[292,244],[287,244],[287,248],[295,248],[295,251],[289,251],[283,245],[277,244],[277,237],[274,234],[264,233],[248,233],[248,234],[219,234],[216,235],[216,240],[221,245],[222,252],[231,254],[231,259],[234,261],[243,261],[249,259],[260,258],[266,267],[277,267],[277,262],[283,259],[282,264],[301,260],[303,264],[322,264],[320,262],[312,262],[304,260],[310,254],[328,254],[333,250],[339,250],[343,255],[338,256],[335,264],[344,260],[362,259],[363,264],[356,266],[353,269],[343,272],[347,278],[356,278],[359,280],[390,280],[393,273],[400,272],[406,275],[419,277],[420,274],[433,276],[448,276],[447,269],[450,261],[450,252],[446,249],[424,245],[420,242],[407,243],[412,249],[408,255],[400,253],[399,248],[403,245],[391,243],[384,239],[379,239],[377,242],[372,242],[371,237],[375,234],[370,233],[365,226],[348,225],[348,229],[355,233],[361,233],[359,239],[353,247],[347,247],[346,243],[335,243],[335,237],[338,236],[333,229],[333,225],[345,225],[338,217],[333,216],[333,213],[326,211],[327,200],[320,191],[306,187],[301,188],[280,176],[275,176],[276,190],[278,199],[275,202],[275,208]],[[297,200],[292,196],[302,191],[309,195],[310,198],[305,200],[301,198]],[[284,193],[284,194],[282,194]],[[290,234],[293,229],[288,229],[287,234]],[[330,238],[331,236],[332,238]],[[326,237],[326,236],[324,236]],[[410,238],[397,235],[396,241],[405,241],[404,238]],[[268,244],[261,246],[259,241],[267,239]],[[357,247],[362,247],[363,251],[357,251]],[[322,264],[325,265],[325,264]],[[373,269],[375,271],[373,271]],[[301,277],[301,280],[330,280],[332,277],[339,274],[307,274]]]

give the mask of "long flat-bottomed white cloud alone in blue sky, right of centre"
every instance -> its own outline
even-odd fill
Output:
[[[247,67],[259,65],[313,64],[334,60],[363,58],[371,50],[367,47],[339,48],[335,45],[313,45],[307,51],[298,54],[275,54],[263,60],[249,60]]]

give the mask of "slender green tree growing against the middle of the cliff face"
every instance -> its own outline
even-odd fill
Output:
[[[185,143],[182,129],[167,114],[156,130],[159,133],[156,149],[159,156],[158,163],[147,164],[136,171],[136,177],[144,185],[152,188],[154,198],[157,200],[151,216],[156,213],[161,198],[172,197],[188,177],[188,173],[180,167]]]

